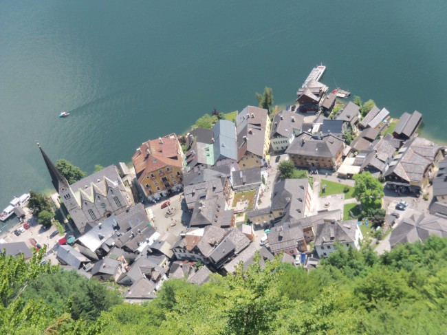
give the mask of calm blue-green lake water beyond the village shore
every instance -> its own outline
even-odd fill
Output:
[[[317,63],[446,141],[446,17],[435,0],[0,1],[0,209],[52,187],[35,140],[90,173],[265,86],[292,102]]]

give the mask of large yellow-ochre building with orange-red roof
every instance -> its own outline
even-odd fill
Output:
[[[148,199],[182,189],[184,155],[174,133],[141,144],[132,157],[138,184]]]

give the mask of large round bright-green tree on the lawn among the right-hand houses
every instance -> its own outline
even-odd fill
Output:
[[[353,196],[362,203],[363,210],[373,210],[382,206],[383,185],[370,172],[354,175],[356,181]]]

